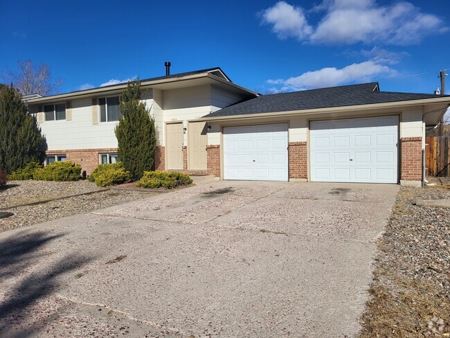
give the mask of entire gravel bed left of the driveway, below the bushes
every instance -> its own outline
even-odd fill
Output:
[[[5,208],[68,195],[90,193],[96,190],[100,190],[100,188],[89,181],[8,181],[6,188],[0,190],[0,207]],[[44,204],[6,208],[2,211],[14,213],[14,215],[0,219],[0,231],[55,220],[77,213],[88,213],[100,208],[150,197],[154,194],[140,191],[107,190],[90,195],[57,199]]]

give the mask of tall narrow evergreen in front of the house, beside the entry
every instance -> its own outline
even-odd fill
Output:
[[[141,82],[128,82],[119,98],[122,116],[116,127],[118,157],[133,180],[154,168],[156,132],[154,118],[141,102]]]

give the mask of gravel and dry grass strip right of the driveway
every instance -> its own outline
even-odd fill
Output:
[[[372,295],[360,337],[450,337],[450,208],[415,206],[450,199],[441,186],[402,187],[379,240]]]

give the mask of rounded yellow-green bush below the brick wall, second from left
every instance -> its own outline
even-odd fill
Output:
[[[38,168],[33,179],[39,181],[78,181],[81,179],[81,166],[71,161],[57,161],[44,168]]]

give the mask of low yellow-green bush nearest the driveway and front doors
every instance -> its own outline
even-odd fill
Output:
[[[192,183],[189,175],[181,172],[170,171],[145,171],[143,177],[136,186],[141,188],[166,188],[172,189],[177,186],[188,186]]]

